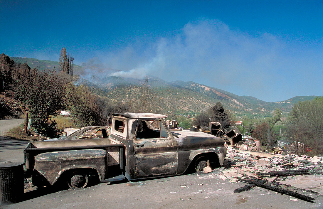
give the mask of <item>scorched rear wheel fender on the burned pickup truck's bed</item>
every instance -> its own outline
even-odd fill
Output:
[[[105,177],[107,155],[107,151],[102,149],[45,152],[36,155],[34,171],[43,175],[51,185],[63,172],[71,169],[95,169],[99,180],[102,180]]]

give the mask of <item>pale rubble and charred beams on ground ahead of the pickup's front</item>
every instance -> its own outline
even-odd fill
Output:
[[[313,202],[315,197],[320,195],[309,189],[298,188],[297,176],[303,176],[306,179],[317,177],[319,182],[323,178],[323,158],[249,152],[245,148],[245,145],[227,147],[227,161],[222,174],[220,174],[222,179],[227,179],[230,182],[247,183],[247,185],[235,189],[234,193],[261,187],[308,202]],[[281,183],[285,180],[295,182],[296,187]],[[323,190],[321,189],[321,191]],[[321,191],[320,193],[322,193]]]

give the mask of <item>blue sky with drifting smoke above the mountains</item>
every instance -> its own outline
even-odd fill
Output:
[[[323,2],[6,1],[0,53],[195,81],[265,101],[323,91]]]

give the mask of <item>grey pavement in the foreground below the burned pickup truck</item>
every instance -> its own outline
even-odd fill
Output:
[[[245,183],[219,178],[223,168],[211,173],[193,173],[130,183],[100,183],[80,190],[32,191],[25,201],[5,206],[19,208],[323,208],[323,197],[309,203],[255,187],[234,193]]]

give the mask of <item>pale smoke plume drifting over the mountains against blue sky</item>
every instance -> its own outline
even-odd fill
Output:
[[[322,86],[322,42],[306,47],[311,50],[272,34],[251,34],[220,20],[200,19],[154,43],[137,41],[119,51],[100,52],[101,62],[92,65],[121,70],[107,76],[192,80],[238,95],[280,101],[296,96],[290,89],[302,95],[313,88],[300,83]]]

